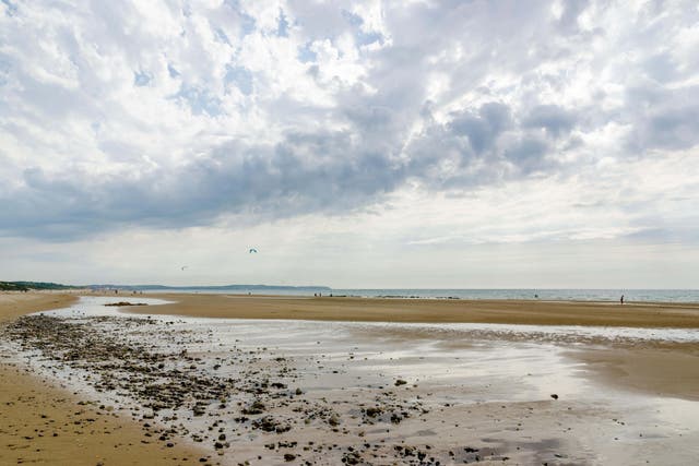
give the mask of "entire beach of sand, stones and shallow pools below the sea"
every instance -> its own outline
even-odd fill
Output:
[[[2,296],[8,464],[679,465],[699,453],[698,304]],[[105,306],[120,301],[146,306]],[[94,420],[50,437],[47,419]]]

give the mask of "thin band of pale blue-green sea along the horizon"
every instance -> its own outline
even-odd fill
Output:
[[[150,291],[150,290],[144,290]],[[538,289],[538,288],[328,288],[328,287],[256,287],[236,288],[167,288],[153,289],[154,292],[202,292],[237,295],[281,295],[281,296],[322,296],[363,297],[363,298],[407,298],[407,299],[524,299],[545,301],[619,301],[625,302],[699,302],[699,289]]]

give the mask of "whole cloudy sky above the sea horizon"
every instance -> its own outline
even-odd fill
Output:
[[[0,279],[699,288],[699,4],[0,0]]]

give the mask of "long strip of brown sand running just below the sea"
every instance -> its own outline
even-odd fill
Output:
[[[305,298],[185,294],[151,296],[177,302],[147,309],[130,309],[130,311],[220,319],[699,328],[699,303],[625,303],[620,306],[608,302],[526,300]],[[138,297],[133,297],[132,300],[138,301]]]

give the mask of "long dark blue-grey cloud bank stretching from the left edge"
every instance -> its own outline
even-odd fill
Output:
[[[95,180],[80,171],[55,176],[31,168],[24,171],[23,188],[7,200],[13,207],[0,214],[0,229],[70,239],[120,224],[205,225],[226,212],[261,218],[336,213],[376,201],[408,178],[455,188],[546,168],[544,143],[528,138],[507,141],[506,131],[513,127],[502,104],[454,115],[452,122],[420,139],[427,141],[422,151],[429,154],[419,154],[416,146],[408,160],[392,157],[391,144],[386,146],[381,139],[386,131],[393,134],[392,111],[378,107],[350,113],[364,135],[293,132],[273,146],[230,142],[176,170]],[[440,164],[449,144],[461,165],[443,172]],[[473,171],[474,157],[489,163]]]

